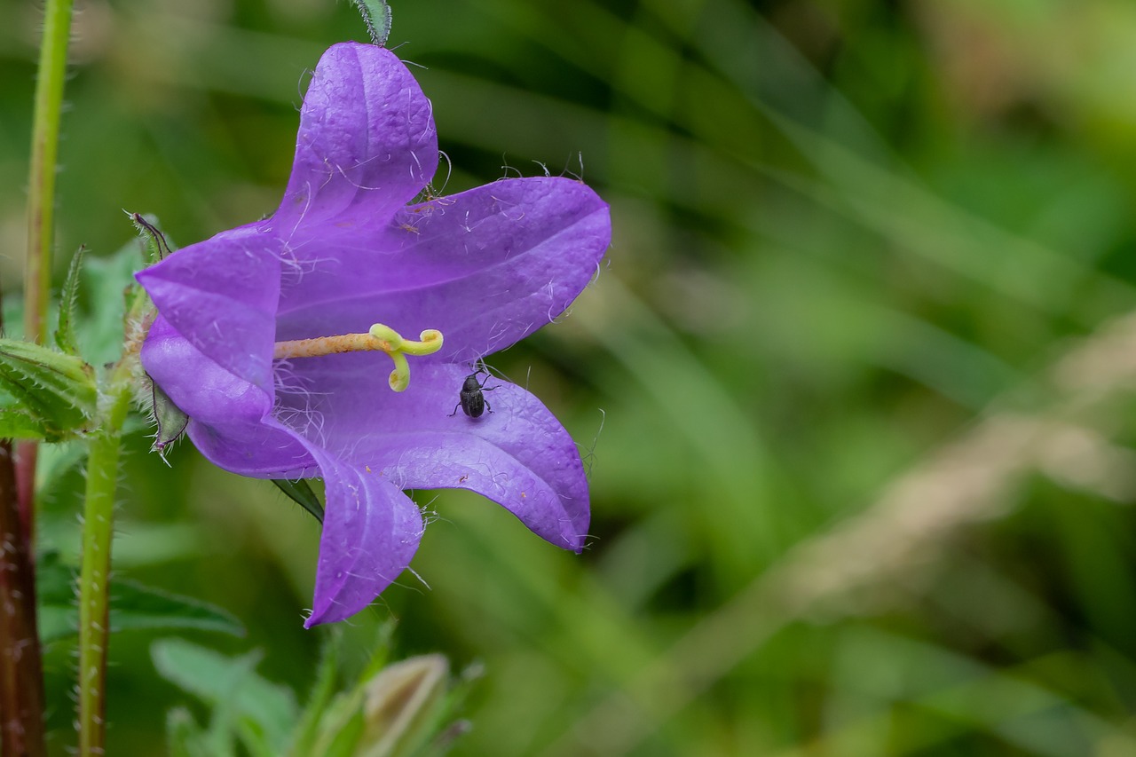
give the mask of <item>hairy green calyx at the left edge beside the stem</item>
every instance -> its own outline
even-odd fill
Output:
[[[94,371],[81,358],[12,339],[0,339],[0,391],[9,423],[47,441],[85,429],[98,401]]]

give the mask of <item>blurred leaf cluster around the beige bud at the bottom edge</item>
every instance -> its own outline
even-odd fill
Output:
[[[186,709],[172,710],[167,722],[170,754],[441,757],[468,730],[466,721],[449,718],[478,669],[452,679],[443,655],[418,655],[391,664],[390,627],[393,624],[379,629],[387,639],[376,640],[358,681],[340,693],[336,660],[342,637],[333,634],[302,712],[294,692],[257,674],[260,652],[225,657],[181,639],[159,639],[152,647],[154,667],[210,706],[206,727]]]

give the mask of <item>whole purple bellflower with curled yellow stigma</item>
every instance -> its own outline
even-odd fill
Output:
[[[407,67],[336,44],[304,97],[279,209],[137,274],[158,309],[142,364],[197,448],[241,475],[324,479],[307,627],[362,609],[410,564],[423,518],[407,489],[469,489],[584,546],[580,456],[541,401],[494,380],[491,413],[454,406],[477,360],[587,285],[608,206],[560,177],[408,205],[437,160]]]

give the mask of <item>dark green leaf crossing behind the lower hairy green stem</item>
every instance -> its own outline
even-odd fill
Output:
[[[75,635],[75,569],[58,555],[41,556],[36,566],[40,640],[43,643]],[[241,622],[224,609],[190,597],[179,597],[134,581],[110,584],[110,630],[194,630],[244,635]]]

